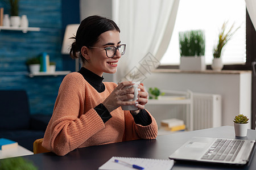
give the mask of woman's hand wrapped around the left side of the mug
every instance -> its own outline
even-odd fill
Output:
[[[139,101],[127,101],[129,99],[133,99],[134,97],[134,88],[126,88],[123,89],[126,86],[132,86],[133,82],[122,82],[119,83],[117,87],[113,90],[113,92],[102,102],[102,104],[108,109],[109,112],[114,111],[114,109],[122,106],[122,105],[137,105]],[[143,87],[139,85],[139,88]],[[144,88],[143,88],[144,91]],[[139,94],[141,94],[141,91],[139,91]],[[143,93],[142,96],[145,96]],[[144,100],[140,100],[142,104],[144,104]],[[147,102],[146,102],[147,103]],[[145,103],[145,104],[146,104]],[[138,107],[141,107],[141,104],[137,105]]]

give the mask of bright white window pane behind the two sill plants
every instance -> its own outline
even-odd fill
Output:
[[[161,65],[179,65],[179,32],[192,29],[205,31],[205,62],[212,63],[213,47],[217,44],[222,24],[239,27],[222,50],[222,61],[227,64],[246,62],[246,5],[244,0],[180,0],[172,38]]]

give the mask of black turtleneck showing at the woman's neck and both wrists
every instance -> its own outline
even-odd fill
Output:
[[[102,80],[104,79],[102,76],[99,76],[92,71],[85,69],[85,67],[81,67],[81,69],[78,71],[82,76],[84,76],[84,79],[97,90],[97,92],[101,93],[105,91],[105,85],[102,83]],[[108,109],[101,103],[97,105],[95,108],[95,111],[98,113],[98,115],[101,117],[102,121],[105,123],[110,118],[112,118],[111,114],[109,113]],[[144,109],[141,110],[138,114],[133,115],[134,121],[136,124],[140,124],[142,126],[150,125],[152,120],[147,111]]]

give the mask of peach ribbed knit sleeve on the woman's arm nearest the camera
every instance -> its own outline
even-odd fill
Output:
[[[42,146],[57,155],[75,150],[105,125],[94,108],[84,113],[84,79],[71,73],[59,88],[53,115],[44,134]],[[79,115],[79,113],[84,113]]]

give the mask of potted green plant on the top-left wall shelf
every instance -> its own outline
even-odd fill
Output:
[[[10,20],[12,27],[19,27],[20,16],[19,16],[19,0],[3,0],[10,6]]]

